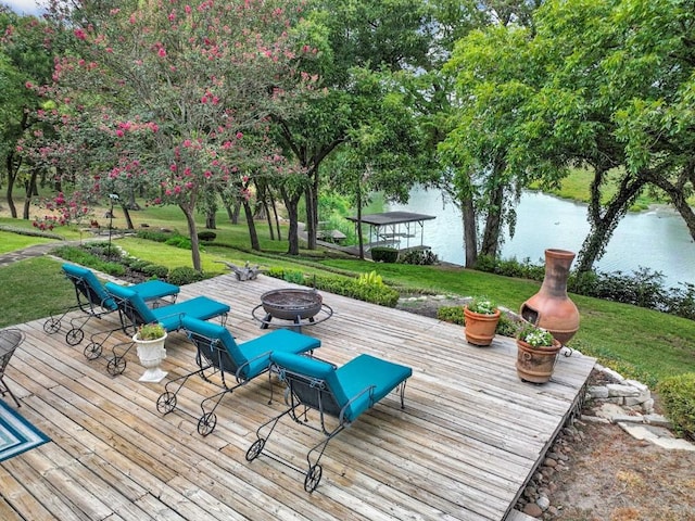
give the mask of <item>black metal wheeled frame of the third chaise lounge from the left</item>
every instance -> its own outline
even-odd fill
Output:
[[[218,393],[204,398],[200,403],[202,416],[198,420],[198,433],[203,436],[206,436],[207,434],[213,432],[213,430],[217,425],[217,415],[215,415],[215,410],[222,403],[223,398],[227,394],[231,394],[235,392],[235,390],[241,387],[242,385],[245,385],[251,380],[258,378],[263,373],[268,374],[268,385],[270,386],[270,399],[268,404],[273,403],[273,382],[270,380],[271,373],[268,369],[258,374],[255,374],[253,378],[244,378],[244,369],[249,367],[254,360],[249,360],[245,364],[238,366],[233,361],[233,359],[229,355],[229,352],[224,346],[220,340],[211,339],[193,331],[188,332],[188,338],[197,347],[195,365],[199,368],[192,372],[166,382],[164,392],[156,401],[156,409],[161,414],[168,415],[176,408],[177,395],[179,391],[184,387],[188,379],[195,374],[198,374],[204,381],[212,383],[213,385],[216,385],[220,389]],[[256,358],[267,357],[268,355],[269,352],[263,353]],[[219,374],[219,377],[213,379],[213,377],[215,377],[216,374]],[[230,374],[233,374],[233,377],[231,377]],[[170,391],[170,389],[174,387],[176,390]],[[205,405],[208,403],[214,403],[214,405],[210,410],[205,410]],[[194,417],[194,415],[188,411],[185,412],[191,417]]]

